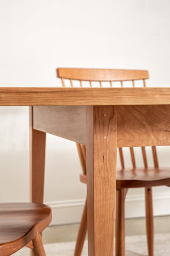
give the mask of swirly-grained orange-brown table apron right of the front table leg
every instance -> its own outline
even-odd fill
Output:
[[[117,147],[170,144],[170,105],[117,106],[117,119]]]

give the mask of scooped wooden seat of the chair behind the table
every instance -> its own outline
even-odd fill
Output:
[[[116,188],[170,185],[170,168],[125,168],[117,170]]]

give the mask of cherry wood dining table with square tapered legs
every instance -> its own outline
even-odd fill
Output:
[[[88,255],[113,256],[117,147],[170,145],[170,88],[0,88],[0,105],[30,106],[33,202],[46,133],[86,144]]]

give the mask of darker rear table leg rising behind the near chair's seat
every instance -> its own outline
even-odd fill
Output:
[[[33,129],[33,107],[29,107],[30,201],[43,203],[46,133]]]

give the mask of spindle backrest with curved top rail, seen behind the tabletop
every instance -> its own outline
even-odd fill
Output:
[[[79,86],[83,87],[83,81],[88,81],[89,86],[92,87],[92,82],[99,82],[102,87],[102,82],[109,82],[109,86],[113,87],[114,82],[120,82],[120,86],[124,87],[124,81],[131,81],[131,86],[135,87],[135,80],[142,80],[142,86],[146,87],[146,79],[149,78],[148,71],[145,70],[125,70],[125,69],[88,69],[88,68],[58,68],[57,77],[61,78],[62,86],[66,87],[65,79],[70,81],[70,86],[74,87],[74,81],[79,81]],[[116,86],[117,87],[117,86]],[[86,146],[76,143],[80,163],[83,174],[86,174]],[[143,163],[145,168],[148,167],[146,150],[142,148]],[[121,168],[125,168],[124,156],[122,148],[119,148]],[[130,147],[131,162],[133,168],[136,168],[134,148]],[[156,154],[156,147],[152,147],[152,155],[154,158],[154,166],[158,168],[158,157]]]

